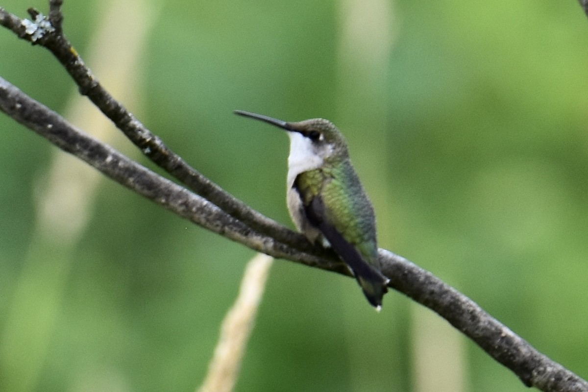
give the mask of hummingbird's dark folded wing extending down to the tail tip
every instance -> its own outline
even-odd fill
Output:
[[[304,206],[304,209],[309,222],[320,230],[333,250],[335,250],[335,253],[353,271],[369,303],[375,306],[376,309],[380,309],[382,307],[382,296],[388,291],[386,287],[388,279],[363,260],[358,249],[352,243],[349,243],[339,230],[325,219],[326,206],[321,196],[313,197],[310,203]]]

